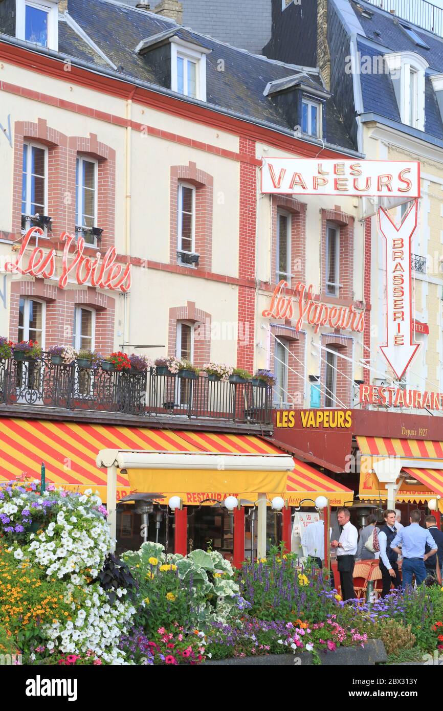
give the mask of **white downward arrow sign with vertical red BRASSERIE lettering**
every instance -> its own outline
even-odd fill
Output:
[[[398,380],[407,370],[420,343],[412,331],[412,235],[417,227],[418,202],[414,201],[399,228],[379,208],[378,223],[386,250],[386,346],[380,346]]]

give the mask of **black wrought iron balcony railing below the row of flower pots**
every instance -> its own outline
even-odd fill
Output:
[[[272,422],[272,387],[144,373],[108,372],[39,360],[0,360],[0,405],[94,410],[142,417]]]

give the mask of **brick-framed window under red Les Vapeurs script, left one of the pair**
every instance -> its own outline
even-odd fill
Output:
[[[305,338],[303,331],[271,326],[269,368],[277,378],[274,405],[303,407]]]

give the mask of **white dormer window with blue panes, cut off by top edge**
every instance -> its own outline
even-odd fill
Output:
[[[51,0],[17,0],[16,36],[58,50],[58,7]]]

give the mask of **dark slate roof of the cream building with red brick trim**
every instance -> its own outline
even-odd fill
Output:
[[[0,0],[1,1],[1,0]],[[122,79],[148,82],[159,90],[170,92],[170,83],[165,82],[165,68],[153,61],[149,47],[142,53],[136,48],[144,40],[162,36],[169,43],[169,31],[174,36],[201,46],[206,54],[206,102],[210,109],[238,114],[258,124],[270,124],[284,133],[294,131],[299,124],[294,97],[294,120],[287,110],[282,110],[274,95],[264,95],[271,82],[307,72],[304,87],[309,86],[325,92],[326,146],[340,146],[345,151],[355,151],[353,142],[343,125],[341,115],[330,98],[327,98],[324,83],[315,68],[284,64],[269,60],[262,55],[253,55],[246,50],[229,46],[191,29],[176,25],[169,18],[143,9],[135,9],[117,0],[68,0],[68,16],[60,15],[58,23],[58,53],[68,55],[73,61],[90,63],[97,71],[119,73]],[[3,31],[0,28],[0,32]],[[6,39],[3,36],[4,39]],[[17,41],[18,42],[18,41]],[[34,51],[47,51],[31,43],[23,43]],[[99,51],[100,50],[100,51]],[[54,53],[51,53],[54,54]],[[223,60],[223,63],[220,63]],[[220,65],[223,70],[220,71]],[[290,84],[291,82],[289,82]],[[291,89],[289,88],[289,91]],[[187,97],[176,94],[183,101]],[[192,101],[192,100],[191,100]]]

